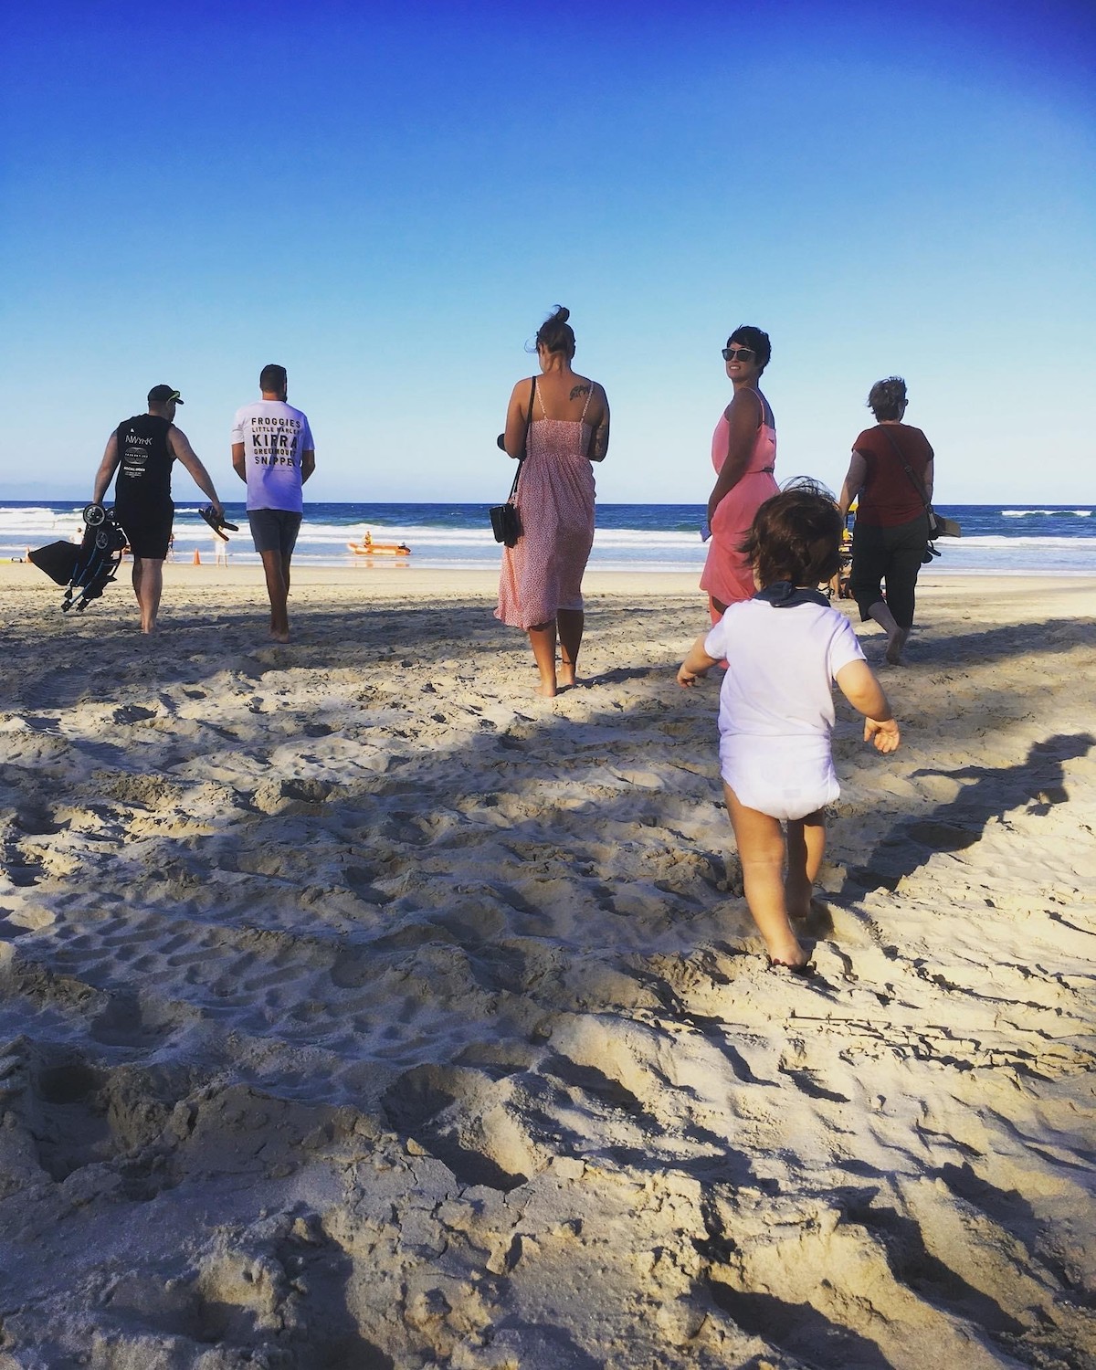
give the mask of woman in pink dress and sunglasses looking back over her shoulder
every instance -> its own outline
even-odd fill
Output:
[[[729,604],[754,597],[754,570],[740,551],[764,501],[780,493],[777,427],[769,400],[758,389],[773,349],[769,334],[749,325],[736,329],[723,348],[727,379],[734,386],[711,440],[715,485],[708,496],[711,541],[700,588],[708,592],[712,622]]]

